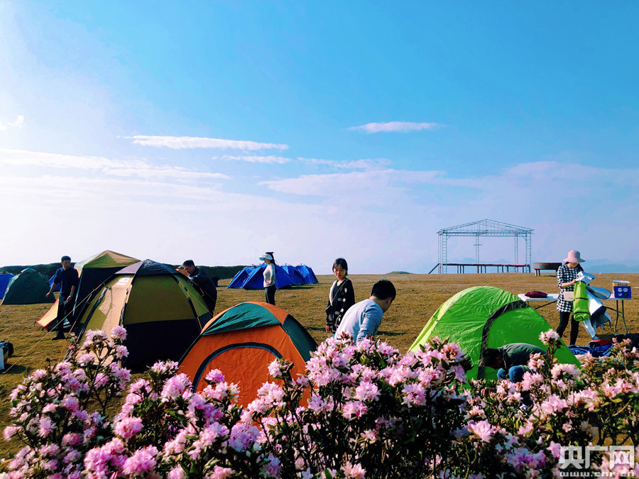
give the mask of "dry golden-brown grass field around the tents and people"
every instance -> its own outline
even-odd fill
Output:
[[[596,274],[596,273],[595,273]],[[540,290],[557,292],[557,280],[554,275],[546,274],[536,277],[530,273],[488,273],[465,275],[350,275],[355,289],[357,301],[368,298],[373,283],[379,279],[393,281],[398,295],[391,309],[384,314],[379,336],[391,345],[405,352],[420,333],[425,322],[432,316],[446,299],[467,287],[490,285],[501,287],[513,294]],[[593,285],[612,288],[613,279],[629,280],[639,285],[639,274],[601,274],[597,275]],[[334,277],[318,276],[319,285],[293,287],[290,290],[279,290],[275,294],[275,302],[300,321],[318,343],[327,338],[324,331],[324,308],[328,300],[329,287]],[[263,301],[261,290],[228,290],[222,286],[229,280],[220,282],[217,312],[243,301]],[[637,290],[633,287],[635,296]],[[614,307],[615,302],[605,302]],[[45,333],[34,324],[48,309],[50,304],[26,304],[19,306],[0,306],[0,340],[11,341],[15,348],[14,355],[9,358],[6,373],[0,375],[0,429],[9,424],[9,392],[18,385],[29,371],[42,368],[46,358],[59,360],[62,358],[65,345],[62,341],[50,341],[53,333]],[[639,298],[626,301],[626,324],[628,331],[639,331]],[[558,315],[555,304],[539,309],[540,314],[553,328],[557,327]],[[611,312],[613,324],[616,314]],[[600,330],[601,331],[601,330]],[[619,333],[625,332],[621,318],[617,324]],[[568,332],[568,331],[567,331]],[[598,331],[599,332],[599,331]],[[599,334],[600,338],[610,338],[613,329]],[[579,330],[579,344],[587,344],[589,336],[585,329]],[[7,452],[16,451],[18,444],[6,444],[0,441],[0,457]]]

